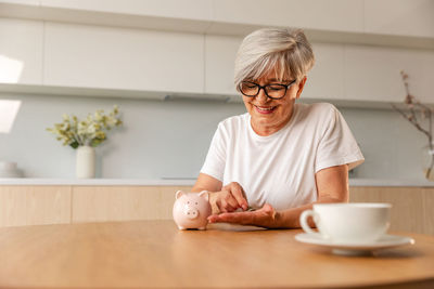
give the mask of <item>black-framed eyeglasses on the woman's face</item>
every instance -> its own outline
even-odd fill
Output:
[[[257,96],[260,90],[264,89],[267,97],[271,100],[280,100],[286,95],[288,88],[291,87],[295,81],[296,79],[291,81],[289,84],[271,83],[264,87],[252,81],[242,81],[238,88],[242,94],[248,97]]]

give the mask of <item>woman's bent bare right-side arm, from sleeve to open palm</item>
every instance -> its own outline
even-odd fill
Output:
[[[254,212],[237,212],[212,215],[209,222],[229,222],[244,225],[258,225],[264,227],[298,228],[299,215],[303,211],[311,209],[314,203],[347,202],[348,201],[348,166],[342,165],[327,168],[316,173],[318,200],[298,208],[276,212],[270,205],[265,205]],[[312,222],[309,222],[315,226]]]

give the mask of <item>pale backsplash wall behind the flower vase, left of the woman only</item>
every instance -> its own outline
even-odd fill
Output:
[[[75,152],[46,131],[62,121],[62,114],[85,117],[118,104],[124,128],[107,135],[98,147],[98,175],[103,178],[194,176],[216,124],[243,113],[242,105],[186,101],[55,97],[3,94],[21,100],[22,107],[10,134],[0,134],[0,159],[17,161],[29,178],[73,178]]]

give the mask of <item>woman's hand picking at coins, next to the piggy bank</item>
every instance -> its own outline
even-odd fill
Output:
[[[210,192],[209,203],[213,208],[213,214],[233,212],[239,208],[245,211],[248,208],[244,189],[237,182],[224,186],[220,192]]]

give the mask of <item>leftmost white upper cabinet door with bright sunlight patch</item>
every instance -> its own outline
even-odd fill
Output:
[[[0,83],[41,84],[43,23],[0,18]]]

